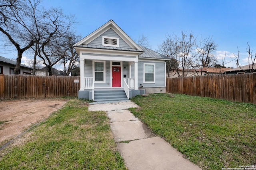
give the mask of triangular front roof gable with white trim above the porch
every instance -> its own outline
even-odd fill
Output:
[[[113,33],[114,31],[114,33]],[[116,35],[116,37],[121,38],[122,45],[125,45],[127,49],[134,49],[136,51],[143,51],[113,20],[108,21],[104,25],[102,25],[100,28],[96,29],[94,32],[90,33],[88,36],[84,37],[82,40],[80,40],[78,43],[74,44],[75,47],[89,47],[90,45],[95,45],[95,41],[98,41],[99,43],[99,37],[102,40],[102,36],[104,33],[108,34],[111,33],[111,35]],[[98,38],[98,40],[96,40]],[[103,48],[103,47],[99,47]],[[107,49],[107,48],[106,48]],[[129,51],[134,51],[129,50]]]

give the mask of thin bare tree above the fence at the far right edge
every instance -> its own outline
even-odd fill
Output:
[[[237,50],[238,50],[238,48],[237,48]],[[238,50],[238,55],[235,55],[234,53],[233,53],[233,55],[236,57],[236,61],[237,61],[237,65],[239,66],[239,68],[241,69],[241,70],[243,70],[244,72],[246,72],[246,73],[253,73],[255,70],[256,70],[256,68],[255,68],[255,60],[256,60],[256,53],[252,53],[253,52],[253,50],[251,50],[250,49],[250,45],[247,43],[247,48],[246,48],[246,52],[248,53],[248,67],[249,67],[249,71],[246,69],[243,69],[242,67],[241,67],[241,65],[240,65],[240,63],[239,63],[239,50]]]

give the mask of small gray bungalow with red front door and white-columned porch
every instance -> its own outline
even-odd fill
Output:
[[[78,98],[129,99],[166,92],[168,57],[136,44],[110,20],[74,44],[80,57]]]

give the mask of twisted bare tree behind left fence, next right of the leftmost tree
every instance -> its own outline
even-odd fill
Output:
[[[42,16],[44,22],[40,25],[44,31],[38,41],[37,55],[47,66],[49,75],[52,75],[52,66],[65,57],[65,53],[60,53],[58,49],[62,45],[62,36],[68,31],[74,18],[65,16],[60,8],[44,10]]]

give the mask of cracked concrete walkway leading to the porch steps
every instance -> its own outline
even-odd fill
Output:
[[[89,111],[106,111],[114,140],[129,170],[201,170],[164,139],[156,137],[126,110],[130,107],[138,106],[129,101],[88,107]]]

